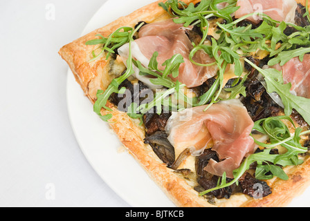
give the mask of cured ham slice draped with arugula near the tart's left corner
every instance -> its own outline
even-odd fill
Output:
[[[172,19],[143,26],[140,28],[139,38],[131,46],[132,56],[134,59],[139,60],[143,66],[147,67],[152,55],[157,51],[159,54],[157,57],[158,68],[164,70],[165,67],[161,66],[161,64],[173,55],[180,54],[183,56],[184,63],[179,68],[179,76],[173,79],[179,80],[188,86],[188,88],[200,86],[210,77],[214,77],[218,69],[216,65],[201,67],[192,64],[189,59],[189,53],[193,46],[185,34],[185,29],[183,24],[174,23]],[[128,44],[118,49],[123,61],[127,60],[128,51]],[[194,55],[193,60],[202,64],[211,64],[215,61],[202,50]],[[149,82],[148,77],[138,75],[137,68],[135,76],[148,86],[154,88],[154,85]]]

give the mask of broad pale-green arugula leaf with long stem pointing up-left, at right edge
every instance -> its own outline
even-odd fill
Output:
[[[298,97],[291,94],[291,83],[283,84],[282,72],[280,72],[279,70],[273,68],[262,69],[253,64],[248,59],[244,60],[264,76],[267,84],[267,92],[275,92],[281,97],[282,103],[284,104],[285,115],[291,115],[293,109],[295,109],[296,111],[298,111],[298,113],[300,113],[300,115],[302,115],[304,120],[308,124],[310,124],[310,99],[307,99],[305,97]]]

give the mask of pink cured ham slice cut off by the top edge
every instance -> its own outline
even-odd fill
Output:
[[[257,12],[258,15],[253,15],[247,19],[253,23],[259,23],[262,20],[259,13],[264,13],[277,21],[295,23],[295,11],[298,4],[295,0],[238,0],[237,6],[240,6],[235,12],[237,19]]]

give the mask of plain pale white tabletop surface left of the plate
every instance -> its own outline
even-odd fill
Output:
[[[0,206],[129,206],[80,151],[57,54],[105,1],[0,1]]]

